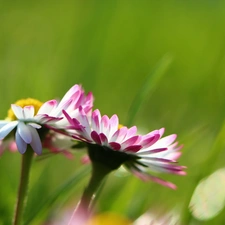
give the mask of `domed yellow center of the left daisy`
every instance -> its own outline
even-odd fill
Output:
[[[40,101],[38,101],[36,99],[33,99],[33,98],[20,99],[20,100],[16,101],[14,104],[18,105],[18,106],[20,106],[22,108],[24,108],[25,106],[33,106],[34,107],[34,115],[37,114],[38,110],[43,105],[42,102],[40,102]],[[13,110],[10,108],[8,110],[8,115],[7,115],[6,120],[12,121],[12,120],[16,120],[16,119],[17,118],[16,118]]]

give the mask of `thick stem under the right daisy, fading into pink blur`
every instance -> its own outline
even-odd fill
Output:
[[[85,188],[81,200],[74,210],[69,225],[78,224],[80,220],[87,220],[91,215],[91,206],[96,192],[102,184],[104,178],[112,170],[101,163],[92,162],[92,175],[88,186]],[[83,221],[82,222],[85,222]]]

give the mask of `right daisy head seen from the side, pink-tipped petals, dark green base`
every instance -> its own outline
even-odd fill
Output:
[[[152,174],[163,172],[185,175],[185,167],[177,164],[180,149],[176,134],[163,137],[164,128],[154,130],[146,135],[137,134],[136,126],[127,128],[119,125],[117,115],[111,118],[101,116],[99,110],[89,117],[82,107],[79,116],[72,118],[63,111],[70,126],[69,134],[88,144],[88,154],[92,162],[98,162],[111,170],[124,165],[134,175],[144,181],[152,180],[161,185],[175,189],[176,186]]]

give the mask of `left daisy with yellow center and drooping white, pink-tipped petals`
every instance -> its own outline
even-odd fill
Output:
[[[80,85],[74,85],[60,102],[50,100],[42,103],[31,98],[19,100],[11,105],[7,118],[0,121],[1,143],[4,144],[6,137],[15,133],[15,142],[21,154],[26,152],[29,144],[40,155],[42,141],[49,129],[61,130],[67,125],[62,110],[66,109],[71,116],[76,116],[81,105],[86,114],[90,113],[93,96],[92,93],[86,96]]]

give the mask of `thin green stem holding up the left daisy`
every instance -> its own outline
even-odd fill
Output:
[[[27,151],[22,155],[20,184],[19,184],[18,199],[16,203],[16,211],[15,211],[13,225],[22,224],[32,157],[33,157],[33,150],[29,146],[27,148]]]

